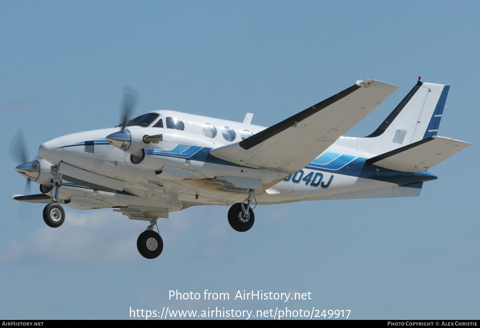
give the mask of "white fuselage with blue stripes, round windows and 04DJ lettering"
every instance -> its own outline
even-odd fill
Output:
[[[165,125],[164,128],[126,127],[132,134],[129,151],[140,155],[141,149],[144,149],[144,159],[140,164],[132,164],[130,153],[105,140],[106,136],[120,128],[73,133],[42,144],[39,153],[51,164],[63,162],[126,183],[124,191],[108,192],[64,181],[59,198],[70,199],[67,205],[83,209],[137,205],[178,211],[192,205],[228,206],[243,201],[245,194],[223,191],[219,184],[212,183],[212,180],[223,176],[261,180],[263,190],[255,193],[259,204],[332,199],[336,195],[383,190],[432,179],[427,176],[421,180],[420,175],[419,180],[419,174],[366,168],[365,159],[377,154],[358,150],[358,138],[341,137],[310,165],[291,176],[282,171],[226,163],[211,156],[209,150],[238,142],[242,140],[242,133],[248,137],[247,132],[255,134],[265,127],[167,110],[152,113],[160,116],[150,126],[159,119],[165,121],[167,117],[175,117],[183,122],[184,129],[168,129]],[[215,127],[215,137],[204,133],[205,124]],[[227,133],[230,141],[222,133],[225,127],[234,131],[234,137],[231,132]],[[211,129],[210,126],[208,128]],[[144,135],[159,134],[163,135],[163,141],[141,141]],[[133,142],[135,138],[136,143]],[[279,180],[283,181],[277,182]],[[48,181],[37,182],[48,184]]]

